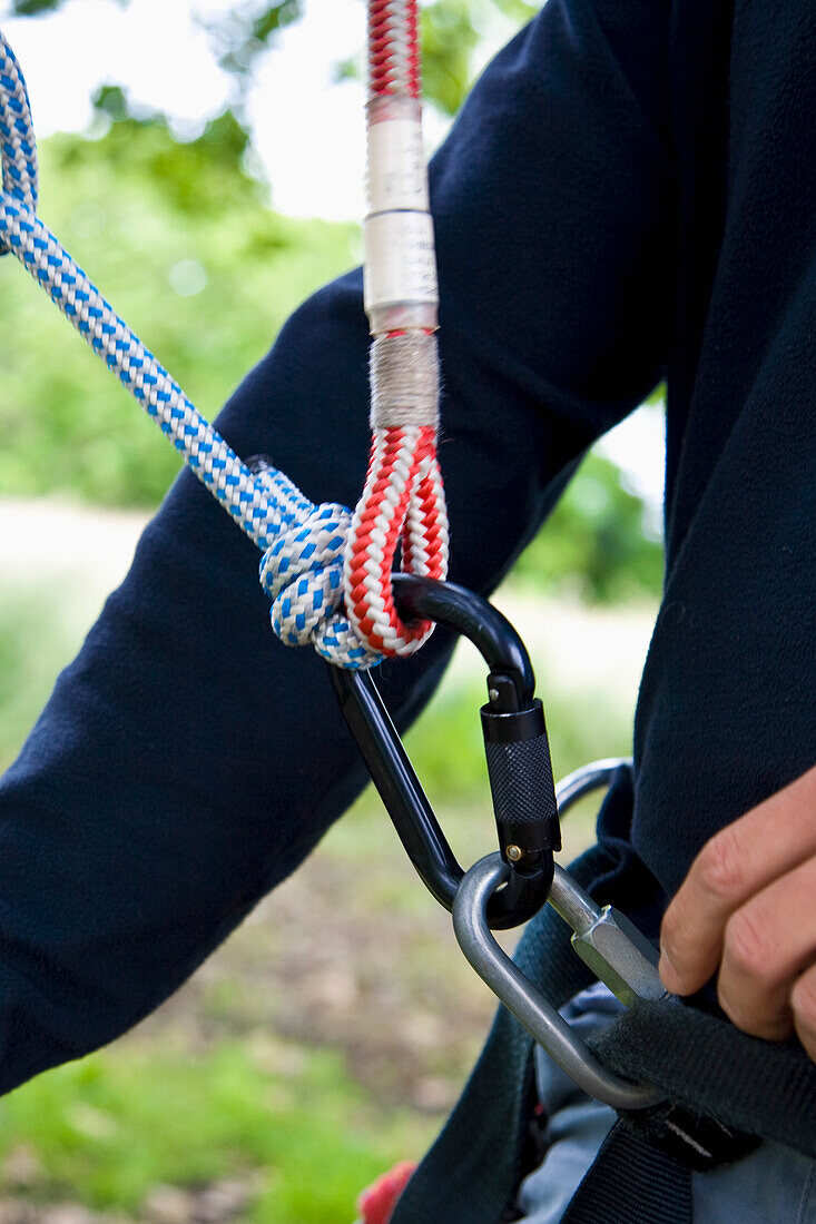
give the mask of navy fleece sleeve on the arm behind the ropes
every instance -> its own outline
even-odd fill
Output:
[[[549,0],[433,163],[451,577],[483,592],[665,360],[665,38],[654,0]],[[354,272],[218,426],[354,504],[366,361]],[[364,785],[323,665],[272,635],[257,561],[183,474],[0,782],[2,1091],[157,1006]],[[448,652],[440,633],[382,670],[399,725]]]

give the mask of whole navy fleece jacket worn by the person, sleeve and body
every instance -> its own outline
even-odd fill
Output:
[[[815,47],[812,0],[549,0],[433,163],[452,579],[490,591],[668,378],[635,798],[599,830],[606,894],[652,929],[703,842],[816,760]],[[366,351],[352,273],[221,430],[353,504]],[[364,783],[256,569],[183,475],[0,783],[1,1089],[154,1007]],[[448,650],[383,670],[401,725]]]

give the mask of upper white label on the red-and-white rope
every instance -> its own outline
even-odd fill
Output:
[[[428,211],[428,175],[423,126],[413,119],[385,119],[368,130],[368,198],[370,213],[391,208]]]

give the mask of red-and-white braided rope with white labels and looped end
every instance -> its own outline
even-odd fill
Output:
[[[436,267],[421,151],[417,0],[369,0],[369,212],[365,308],[371,454],[344,565],[346,612],[382,655],[417,650],[430,623],[404,624],[391,574],[444,579],[448,530],[436,459]]]

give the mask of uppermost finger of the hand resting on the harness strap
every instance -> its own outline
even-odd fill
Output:
[[[667,909],[660,977],[692,994],[713,977],[730,916],[749,897],[816,852],[816,769],[712,837]]]

